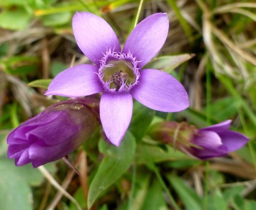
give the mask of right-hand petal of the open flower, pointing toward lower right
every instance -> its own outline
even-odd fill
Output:
[[[145,106],[162,112],[179,112],[188,108],[188,94],[182,84],[166,72],[155,69],[140,71],[131,95]]]

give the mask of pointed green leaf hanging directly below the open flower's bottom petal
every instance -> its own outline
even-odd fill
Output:
[[[113,184],[131,165],[134,160],[136,141],[127,131],[119,147],[107,144],[103,139],[99,141],[99,150],[104,158],[93,178],[88,192],[88,209],[93,202],[111,184]]]

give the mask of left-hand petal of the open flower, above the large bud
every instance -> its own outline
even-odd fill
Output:
[[[82,64],[59,73],[50,83],[45,95],[67,97],[88,96],[103,91],[97,66]]]

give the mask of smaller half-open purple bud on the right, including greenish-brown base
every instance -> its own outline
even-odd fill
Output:
[[[150,136],[201,160],[225,156],[242,148],[249,138],[229,130],[231,120],[196,130],[188,123],[161,122],[153,127]]]

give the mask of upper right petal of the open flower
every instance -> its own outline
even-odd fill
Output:
[[[156,13],[142,20],[133,29],[127,38],[123,52],[131,51],[142,68],[162,48],[169,29],[169,21],[166,13]]]

